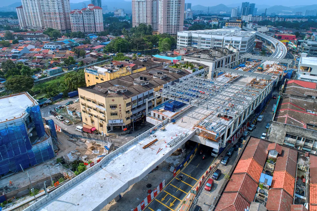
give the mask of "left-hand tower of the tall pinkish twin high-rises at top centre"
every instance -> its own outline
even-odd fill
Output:
[[[158,0],[132,0],[132,26],[140,23],[158,30]]]

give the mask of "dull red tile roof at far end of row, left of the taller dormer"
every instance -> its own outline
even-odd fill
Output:
[[[240,160],[253,158],[260,166],[264,166],[267,157],[268,142],[251,137]]]

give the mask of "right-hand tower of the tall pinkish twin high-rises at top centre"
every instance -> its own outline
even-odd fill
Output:
[[[159,0],[159,33],[176,35],[184,27],[184,0]]]

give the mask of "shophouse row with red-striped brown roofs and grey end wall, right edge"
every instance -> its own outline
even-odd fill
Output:
[[[317,151],[317,83],[286,80],[277,100],[268,138],[281,145]]]

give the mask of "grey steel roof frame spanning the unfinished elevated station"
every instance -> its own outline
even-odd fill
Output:
[[[155,96],[166,97],[236,119],[263,91],[264,88],[249,87],[248,83],[244,82],[225,83],[216,79],[192,76],[155,92]]]

